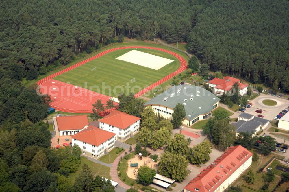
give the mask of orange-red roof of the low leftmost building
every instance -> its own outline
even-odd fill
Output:
[[[60,131],[83,129],[89,124],[86,115],[60,116],[56,117],[56,121]]]

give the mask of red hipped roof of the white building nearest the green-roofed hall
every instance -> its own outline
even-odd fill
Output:
[[[100,119],[99,121],[107,123],[109,125],[113,125],[114,127],[117,128],[125,129],[129,125],[133,124],[138,120],[140,120],[139,117],[115,110],[111,112],[109,115]]]

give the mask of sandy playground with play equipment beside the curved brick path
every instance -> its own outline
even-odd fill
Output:
[[[155,170],[158,170],[158,163],[152,161],[149,156],[140,158],[138,154],[127,161],[127,176],[132,179],[137,179],[138,169],[140,166],[147,165]]]

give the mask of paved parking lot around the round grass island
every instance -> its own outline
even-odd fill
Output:
[[[277,105],[275,106],[267,106],[262,103],[265,99],[271,99],[277,102]],[[246,108],[246,113],[252,114],[252,115],[259,115],[259,113],[256,113],[255,111],[260,109],[262,110],[262,115],[264,116],[264,119],[273,120],[276,115],[279,114],[282,110],[285,108],[288,108],[289,101],[286,99],[278,98],[277,96],[273,97],[272,95],[265,95],[262,94],[257,97],[254,100],[249,100],[250,103],[253,104],[251,108]]]

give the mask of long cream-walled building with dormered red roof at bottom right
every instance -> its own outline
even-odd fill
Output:
[[[229,147],[185,187],[184,192],[222,192],[252,164],[253,154],[241,145]]]

